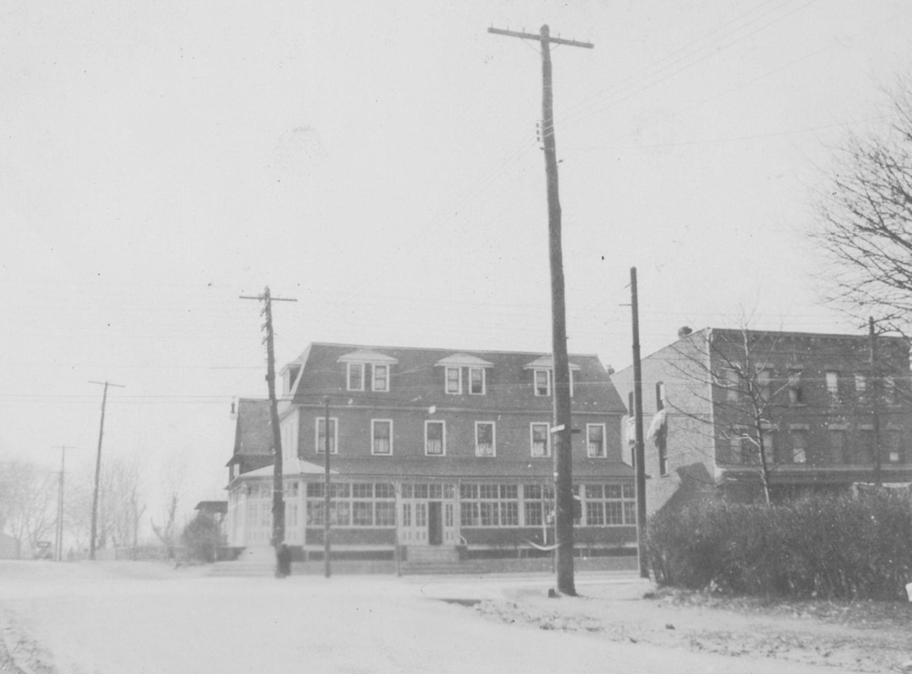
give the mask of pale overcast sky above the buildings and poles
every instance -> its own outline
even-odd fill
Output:
[[[223,498],[237,398],[312,341],[548,352],[540,45],[568,347],[859,332],[805,232],[888,123],[905,0],[0,0],[0,456],[139,461]],[[814,273],[816,273],[814,275]],[[825,284],[824,284],[825,285]],[[103,460],[104,460],[103,459]],[[169,471],[169,467],[171,470]],[[161,516],[161,507],[150,509]]]

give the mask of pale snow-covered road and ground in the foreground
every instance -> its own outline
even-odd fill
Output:
[[[640,598],[648,586],[629,575],[579,575],[577,589],[588,598],[549,600],[548,576],[276,580],[204,572],[141,563],[0,562],[6,648],[0,671],[834,671],[753,657],[762,653],[732,658],[695,652],[688,644],[632,633],[618,638],[617,631],[603,627],[617,630],[626,623],[637,630],[647,619],[643,609],[659,611],[648,618],[652,622],[662,615],[673,615],[679,624],[687,620],[686,614]],[[466,607],[440,599],[482,602]],[[591,622],[585,614],[596,606],[607,613]],[[540,621],[543,611],[553,614],[547,617],[550,626]]]

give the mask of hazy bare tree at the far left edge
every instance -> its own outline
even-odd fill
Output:
[[[30,461],[0,461],[0,531],[23,544],[36,543],[54,530],[57,517],[57,476]]]

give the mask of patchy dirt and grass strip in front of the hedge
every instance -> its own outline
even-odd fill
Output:
[[[868,672],[912,672],[912,603],[782,601],[657,590],[640,598],[586,587],[577,597],[516,591],[483,617],[594,638]],[[905,666],[905,667],[904,667]]]

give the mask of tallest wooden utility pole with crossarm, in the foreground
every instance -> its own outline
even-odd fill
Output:
[[[561,249],[561,203],[557,191],[557,147],[554,142],[554,96],[551,83],[551,45],[586,47],[576,42],[552,37],[548,26],[538,35],[500,28],[489,33],[538,40],[542,45],[542,135],[544,139],[544,174],[547,181],[548,238],[551,264],[551,343],[554,369],[554,533],[557,589],[575,595],[573,540],[573,457],[570,426],[570,366],[567,359],[566,309],[564,306],[564,258]]]

